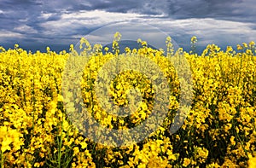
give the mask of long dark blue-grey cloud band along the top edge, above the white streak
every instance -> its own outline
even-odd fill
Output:
[[[166,14],[172,19],[213,18],[255,22],[254,0],[88,0],[62,3],[69,11],[102,9],[108,12]]]

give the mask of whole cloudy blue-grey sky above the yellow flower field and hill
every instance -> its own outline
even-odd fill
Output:
[[[32,51],[46,46],[59,51],[86,35],[102,42],[119,29],[125,38],[160,40],[147,25],[185,49],[194,35],[199,48],[236,46],[256,41],[255,0],[0,0],[0,45],[5,48],[19,43]]]

